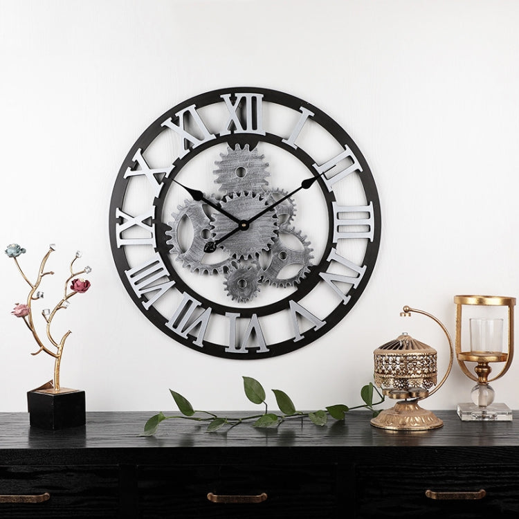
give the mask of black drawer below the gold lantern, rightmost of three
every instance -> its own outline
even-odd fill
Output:
[[[426,490],[440,493],[432,499]],[[484,497],[476,495],[484,490]],[[446,496],[445,492],[477,499]],[[519,517],[517,466],[358,466],[356,517],[468,519]]]

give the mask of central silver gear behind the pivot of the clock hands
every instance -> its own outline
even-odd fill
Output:
[[[237,219],[248,220],[261,212],[268,204],[266,199],[260,194],[243,192],[224,197],[220,201],[220,205],[221,208],[234,215]],[[212,234],[216,241],[235,230],[237,226],[235,221],[225,215],[215,213],[214,218]],[[248,259],[260,253],[260,251],[268,250],[268,247],[273,244],[276,235],[277,215],[272,210],[253,221],[247,230],[239,230],[237,233],[224,239],[219,247],[237,259]]]

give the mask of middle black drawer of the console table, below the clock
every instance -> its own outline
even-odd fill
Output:
[[[208,493],[262,497],[223,503]],[[336,466],[139,466],[138,500],[145,519],[327,519],[336,511]]]

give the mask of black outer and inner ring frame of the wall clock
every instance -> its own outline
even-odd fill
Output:
[[[138,149],[142,149],[143,152],[151,145],[154,139],[164,131],[164,127],[161,123],[168,119],[172,118],[172,120],[176,119],[175,114],[179,113],[179,111],[190,107],[192,104],[196,104],[197,109],[206,107],[209,104],[214,104],[215,102],[221,102],[220,95],[227,94],[230,92],[253,92],[260,93],[263,95],[264,102],[271,102],[274,104],[280,104],[284,107],[289,107],[295,111],[299,111],[301,108],[306,108],[311,111],[314,115],[311,117],[312,120],[321,127],[325,128],[331,136],[333,136],[341,145],[349,147],[352,150],[354,155],[356,156],[359,164],[362,168],[361,174],[361,183],[363,185],[364,192],[366,194],[367,199],[372,202],[373,205],[373,218],[374,218],[374,237],[372,241],[367,242],[366,252],[364,255],[363,264],[365,264],[366,271],[363,274],[361,281],[358,283],[358,286],[349,290],[348,295],[350,296],[348,302],[344,304],[343,302],[339,302],[335,309],[329,313],[325,317],[325,325],[319,329],[308,329],[304,331],[303,338],[298,341],[294,341],[291,339],[284,340],[280,343],[268,344],[268,352],[257,353],[248,351],[246,355],[241,353],[233,353],[226,352],[222,345],[216,343],[210,343],[209,341],[204,340],[203,348],[200,348],[197,345],[192,343],[192,340],[189,338],[183,338],[179,334],[176,334],[175,331],[165,326],[167,319],[161,315],[154,307],[149,307],[149,309],[145,309],[143,307],[143,299],[140,298],[131,287],[127,275],[125,272],[131,268],[127,262],[127,258],[125,255],[125,251],[123,248],[118,248],[117,246],[117,235],[116,235],[116,223],[119,221],[116,215],[116,208],[120,208],[122,206],[122,202],[124,201],[125,191],[126,191],[126,181],[124,179],[125,172],[127,168],[133,169],[136,167],[136,161],[134,161],[134,156]],[[231,98],[233,102],[235,99]],[[163,215],[163,203],[167,196],[167,192],[173,183],[173,179],[176,175],[178,175],[182,168],[190,161],[194,156],[203,152],[204,150],[218,145],[220,143],[227,143],[231,148],[234,148],[236,144],[239,144],[240,147],[248,144],[250,149],[256,147],[259,142],[270,143],[271,145],[276,145],[281,147],[286,152],[289,152],[295,158],[303,163],[309,172],[313,174],[313,176],[318,177],[317,183],[320,185],[320,189],[322,195],[325,197],[325,201],[328,206],[328,238],[327,244],[324,253],[320,259],[318,264],[314,264],[310,266],[310,272],[304,277],[304,280],[298,284],[298,289],[295,292],[292,292],[289,296],[278,300],[274,303],[267,304],[260,307],[233,307],[219,304],[217,302],[208,300],[203,297],[203,295],[198,292],[192,290],[188,284],[184,282],[184,280],[176,273],[174,268],[170,268],[171,262],[169,260],[170,257],[170,246],[166,244],[166,230],[170,230],[170,227],[165,224],[161,217]],[[176,289],[180,291],[185,291],[186,293],[192,295],[194,298],[199,300],[205,307],[211,307],[212,311],[215,313],[219,313],[220,315],[225,315],[227,311],[236,311],[239,309],[240,317],[248,317],[250,318],[253,314],[257,314],[257,316],[261,317],[264,315],[270,315],[273,313],[277,313],[278,311],[282,311],[288,307],[289,300],[294,300],[298,302],[305,295],[310,293],[313,288],[320,282],[319,273],[325,271],[329,261],[327,258],[329,257],[329,253],[331,248],[334,246],[333,241],[333,233],[334,233],[334,217],[331,211],[331,203],[336,201],[333,191],[327,190],[327,187],[322,180],[322,176],[320,176],[316,170],[313,168],[313,164],[315,163],[314,159],[309,156],[304,150],[300,147],[296,147],[295,149],[285,143],[282,142],[282,137],[277,136],[275,134],[266,134],[266,135],[258,135],[258,134],[235,134],[231,131],[230,134],[221,136],[216,134],[216,138],[208,141],[207,143],[203,143],[195,148],[190,149],[190,152],[183,158],[176,158],[173,165],[172,174],[163,179],[164,186],[161,190],[161,195],[154,199],[154,206],[156,207],[156,219],[152,222],[156,228],[156,252],[161,256],[163,263],[167,267],[168,272],[170,273],[170,280],[174,280]],[[194,96],[188,100],[185,100],[179,104],[177,104],[172,109],[163,113],[162,116],[157,118],[152,125],[149,125],[147,129],[143,132],[143,134],[136,140],[136,143],[129,150],[125,161],[123,161],[116,183],[113,188],[111,203],[110,203],[110,213],[109,213],[109,235],[110,235],[110,243],[111,243],[111,251],[113,254],[113,259],[116,263],[116,268],[118,270],[118,274],[122,283],[125,286],[125,289],[129,293],[132,300],[134,300],[136,306],[144,313],[146,318],[150,320],[158,329],[161,329],[165,334],[174,338],[174,340],[182,343],[185,346],[188,346],[192,349],[195,349],[198,352],[203,352],[205,354],[210,354],[213,356],[219,356],[224,358],[236,358],[240,360],[245,359],[257,359],[257,358],[270,358],[273,356],[278,356],[282,354],[286,354],[289,352],[293,352],[295,349],[299,349],[304,345],[308,345],[312,343],[316,339],[320,338],[324,334],[327,333],[330,329],[335,327],[340,320],[345,318],[347,313],[354,307],[358,298],[360,298],[363,293],[367,282],[370,280],[372,275],[372,271],[374,269],[374,265],[376,263],[376,257],[379,253],[380,246],[380,238],[381,238],[381,209],[380,209],[380,201],[378,191],[376,189],[376,185],[370,170],[367,161],[365,160],[363,154],[360,149],[358,149],[354,140],[347,134],[347,132],[338,125],[333,119],[327,116],[326,113],[313,106],[309,102],[306,102],[300,98],[297,98],[293,95],[286,94],[280,91],[275,91],[271,89],[260,89],[257,87],[233,87],[230,89],[219,89],[215,91],[209,91],[203,93],[201,95]]]

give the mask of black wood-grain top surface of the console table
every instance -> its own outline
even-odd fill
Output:
[[[206,422],[170,419],[156,435],[140,436],[156,412],[87,412],[86,425],[64,430],[30,428],[28,413],[0,413],[0,451],[74,448],[373,448],[373,447],[511,447],[519,446],[519,422],[463,422],[454,410],[435,411],[444,426],[428,431],[389,431],[371,426],[371,413],[353,411],[344,420],[329,417],[325,426],[308,418],[286,419],[277,428],[240,424],[208,433]],[[218,412],[246,416],[246,412]]]

